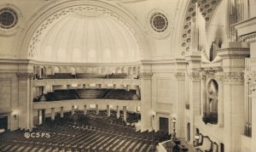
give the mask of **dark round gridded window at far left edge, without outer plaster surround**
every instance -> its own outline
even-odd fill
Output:
[[[0,27],[3,29],[10,29],[18,22],[18,17],[14,9],[2,8],[0,9]]]

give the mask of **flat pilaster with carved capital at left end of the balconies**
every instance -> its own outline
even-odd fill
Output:
[[[33,127],[33,89],[32,78],[33,73],[23,72],[17,73],[18,76],[18,98],[19,110],[18,115],[19,127],[25,129],[32,129]]]

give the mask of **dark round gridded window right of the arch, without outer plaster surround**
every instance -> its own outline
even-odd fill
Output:
[[[150,25],[154,31],[163,32],[166,31],[168,27],[168,20],[164,14],[156,13],[152,15]]]

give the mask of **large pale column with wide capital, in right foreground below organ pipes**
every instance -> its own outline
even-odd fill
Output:
[[[233,45],[233,44],[232,44]],[[223,59],[224,93],[224,144],[225,151],[242,151],[241,134],[244,129],[244,69],[248,48],[239,48],[239,42],[233,48],[224,48],[218,52]]]

